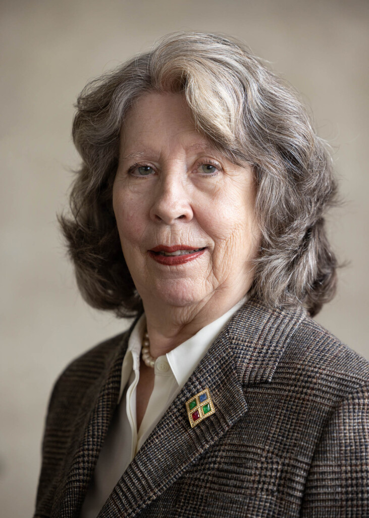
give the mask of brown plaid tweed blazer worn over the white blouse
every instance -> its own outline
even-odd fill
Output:
[[[129,332],[76,359],[50,401],[35,516],[78,517]],[[251,299],[227,324],[99,518],[369,516],[369,364],[301,308]],[[190,427],[209,387],[216,412]]]

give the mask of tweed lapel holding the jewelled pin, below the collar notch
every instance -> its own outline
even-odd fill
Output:
[[[214,345],[128,466],[99,518],[138,514],[247,411],[226,337]],[[206,387],[216,412],[191,428],[186,401]]]

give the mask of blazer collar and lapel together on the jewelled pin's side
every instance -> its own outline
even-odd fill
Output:
[[[199,363],[115,486],[98,518],[135,516],[247,412],[247,384],[269,382],[302,309],[243,306]],[[216,412],[191,428],[185,403],[210,390]]]

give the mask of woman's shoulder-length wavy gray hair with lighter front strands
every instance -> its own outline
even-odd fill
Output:
[[[91,81],[76,103],[73,140],[82,157],[59,217],[85,300],[118,316],[142,311],[112,208],[119,132],[149,92],[182,93],[195,126],[234,163],[252,164],[262,232],[251,288],[269,307],[302,304],[311,315],[335,292],[336,259],[323,214],[336,185],[325,143],[290,85],[240,42],[180,32]]]

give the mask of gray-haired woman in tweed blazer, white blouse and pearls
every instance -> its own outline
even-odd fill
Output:
[[[368,515],[369,366],[310,318],[335,184],[296,94],[178,33],[77,109],[76,277],[137,318],[57,381],[35,516]]]

